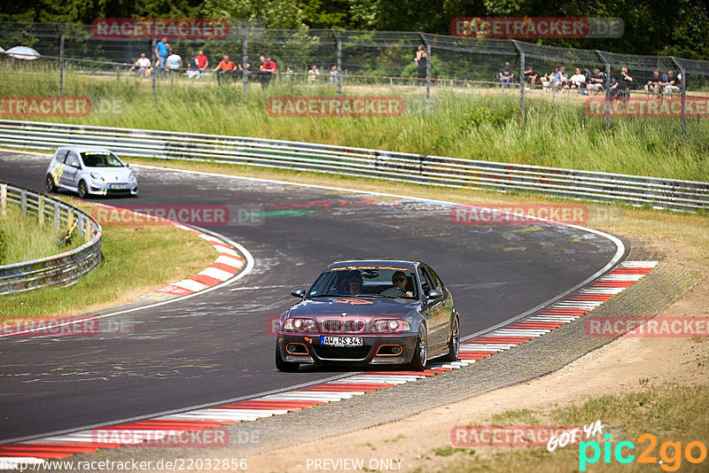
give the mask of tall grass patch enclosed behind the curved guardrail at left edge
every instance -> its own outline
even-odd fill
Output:
[[[18,205],[9,203],[6,215],[0,216],[0,266],[46,258],[81,246],[82,242],[74,238],[72,244],[59,248],[53,229],[51,221],[44,221],[40,229],[36,215],[22,215]]]

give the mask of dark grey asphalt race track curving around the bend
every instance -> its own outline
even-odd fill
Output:
[[[0,180],[42,191],[49,160],[0,151]],[[121,315],[138,328],[129,333],[0,338],[0,442],[345,376],[334,368],[277,372],[268,333],[269,318],[296,302],[291,289],[311,283],[333,260],[425,260],[453,292],[465,336],[568,291],[617,252],[608,238],[566,226],[454,224],[450,207],[429,202],[134,171],[139,198],[96,200],[229,205],[234,220],[263,211],[261,221],[205,226],[243,244],[255,268],[205,295]]]

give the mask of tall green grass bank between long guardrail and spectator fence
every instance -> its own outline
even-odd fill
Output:
[[[19,75],[21,75],[21,80]],[[0,72],[4,94],[57,93],[54,73]],[[271,95],[332,95],[334,86],[281,81],[265,92],[249,85],[242,98],[240,82],[218,87],[214,79],[159,80],[152,100],[152,81],[121,76],[65,78],[65,94],[121,99],[121,113],[95,111],[88,117],[44,119],[125,128],[155,128],[230,136],[331,143],[406,151],[464,159],[495,160],[547,167],[652,175],[709,181],[706,156],[709,126],[688,119],[682,139],[679,119],[588,118],[582,96],[552,101],[529,94],[526,123],[519,125],[518,91],[507,89],[433,88],[426,112],[425,89],[415,86],[347,86],[347,95],[401,95],[404,113],[389,118],[284,118],[269,116]]]

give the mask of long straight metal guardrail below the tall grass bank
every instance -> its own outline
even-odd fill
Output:
[[[97,145],[136,157],[214,161],[502,192],[525,191],[676,211],[709,207],[709,182],[328,144],[19,120],[0,120],[0,139],[6,146],[31,149],[51,150],[60,144]]]

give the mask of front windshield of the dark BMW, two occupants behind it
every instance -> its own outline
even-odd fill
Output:
[[[416,276],[396,265],[354,265],[325,271],[308,290],[308,298],[340,295],[417,299]]]

